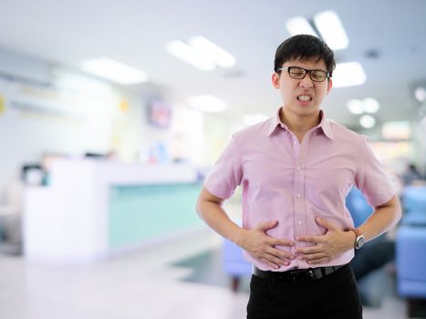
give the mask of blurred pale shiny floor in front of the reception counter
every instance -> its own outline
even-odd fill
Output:
[[[219,284],[209,283],[212,277],[200,280],[210,272],[200,271],[197,256],[209,256],[207,263],[222,272],[219,247],[220,239],[205,230],[90,264],[46,265],[2,256],[0,318],[245,318],[244,285],[241,293],[232,293],[223,273]],[[191,260],[198,264],[188,264]],[[380,308],[366,308],[364,318],[400,319],[404,314],[405,304],[389,297]]]

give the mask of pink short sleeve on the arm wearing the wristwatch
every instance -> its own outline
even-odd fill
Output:
[[[355,183],[369,205],[379,206],[390,201],[395,189],[365,137],[361,141],[357,164]]]

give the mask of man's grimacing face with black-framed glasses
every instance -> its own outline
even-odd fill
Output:
[[[311,79],[309,74],[301,79],[293,78],[289,76],[286,67],[302,67],[327,72],[325,62],[322,59],[317,61],[317,58],[307,61],[296,59],[287,61],[282,67],[285,68],[280,74],[273,74],[272,83],[275,88],[280,90],[285,108],[300,116],[317,114],[322,100],[331,89],[331,79],[326,78],[322,82],[316,82]],[[312,77],[316,78],[314,75]]]

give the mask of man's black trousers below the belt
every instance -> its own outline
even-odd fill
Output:
[[[310,283],[285,283],[252,275],[247,319],[362,319],[350,265]]]

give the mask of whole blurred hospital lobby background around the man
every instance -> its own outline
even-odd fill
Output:
[[[353,261],[365,317],[426,317],[425,15],[422,0],[0,0],[0,316],[244,318],[251,265],[195,201],[233,132],[281,106],[276,46],[308,33],[336,54],[327,117],[369,137],[403,203]],[[356,189],[347,204],[356,224],[371,212]]]

